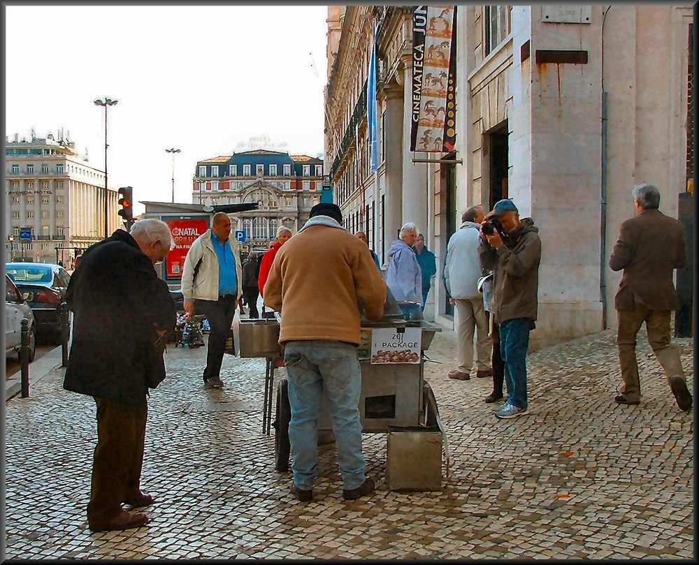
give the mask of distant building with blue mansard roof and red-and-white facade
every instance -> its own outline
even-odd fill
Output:
[[[296,233],[320,200],[323,161],[269,149],[233,153],[196,163],[192,203],[259,203],[258,210],[230,214],[233,230],[247,233],[247,248],[266,250],[279,226]]]

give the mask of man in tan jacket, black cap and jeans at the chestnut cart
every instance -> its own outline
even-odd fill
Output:
[[[308,222],[279,250],[264,286],[265,305],[282,314],[279,342],[287,367],[294,460],[291,492],[301,501],[313,497],[322,396],[333,418],[343,497],[354,500],[374,490],[361,451],[357,299],[368,319],[380,320],[386,284],[369,248],[342,221],[335,204],[312,207]]]

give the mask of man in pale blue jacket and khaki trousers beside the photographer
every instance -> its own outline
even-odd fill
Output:
[[[483,309],[483,295],[477,288],[478,279],[482,276],[478,244],[483,218],[480,206],[463,212],[461,226],[449,239],[445,256],[444,284],[449,293],[449,302],[456,306],[456,355],[459,362],[459,367],[449,372],[449,379],[459,381],[470,379],[474,328],[477,328],[476,375],[487,377],[493,374],[488,316]]]

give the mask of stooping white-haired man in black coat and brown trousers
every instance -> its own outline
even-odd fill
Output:
[[[80,257],[67,291],[75,314],[64,388],[94,397],[97,445],[87,521],[92,531],[140,527],[148,506],[140,491],[147,395],[165,379],[166,330],[175,325],[168,286],[154,264],[171,249],[168,225],[156,219],[116,230]]]

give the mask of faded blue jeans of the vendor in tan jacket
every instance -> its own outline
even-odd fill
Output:
[[[325,397],[333,418],[338,464],[343,488],[363,485],[359,392],[361,369],[356,347],[343,342],[313,339],[287,342],[284,364],[289,381],[289,441],[294,485],[312,490],[318,466],[318,415]]]

